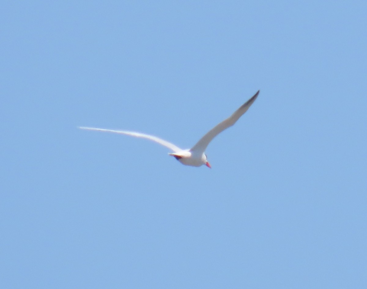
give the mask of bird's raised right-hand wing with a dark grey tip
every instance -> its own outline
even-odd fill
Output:
[[[241,107],[233,112],[233,114],[222,121],[221,123],[218,123],[215,127],[213,127],[210,131],[207,132],[205,136],[203,136],[191,149],[190,151],[197,151],[199,153],[204,153],[205,149],[207,148],[209,142],[217,136],[217,134],[224,131],[226,128],[232,126],[235,124],[235,122],[248,110],[248,108],[251,106],[252,103],[254,103],[255,99],[257,98],[260,90],[258,90],[257,93],[255,93],[254,96],[252,96],[249,100],[246,101]]]

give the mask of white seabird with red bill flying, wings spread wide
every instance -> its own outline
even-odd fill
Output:
[[[95,130],[95,131],[105,131],[110,133],[118,133],[118,134],[126,134],[128,136],[146,138],[151,141],[155,141],[164,147],[169,148],[172,152],[168,153],[170,156],[173,156],[180,163],[186,166],[200,167],[205,164],[207,167],[211,168],[210,163],[208,162],[207,155],[205,150],[208,144],[212,141],[214,137],[216,137],[219,133],[224,131],[230,126],[233,126],[237,120],[248,110],[252,103],[257,99],[260,90],[255,93],[249,100],[246,101],[243,105],[241,105],[229,118],[224,121],[218,123],[215,127],[213,127],[210,131],[208,131],[200,140],[190,149],[181,149],[176,145],[168,142],[166,140],[162,140],[159,137],[151,136],[145,133],[138,133],[135,131],[126,131],[126,130],[112,130],[112,129],[99,129],[97,127],[86,127],[79,126],[79,129],[83,130]]]

